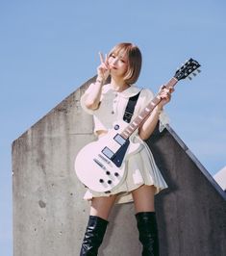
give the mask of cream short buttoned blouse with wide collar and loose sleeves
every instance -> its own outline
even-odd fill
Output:
[[[127,90],[117,92],[113,90],[111,84],[104,85],[101,93],[101,104],[98,109],[90,110],[86,107],[85,101],[88,96],[88,92],[94,87],[95,84],[90,84],[88,90],[81,97],[81,106],[89,114],[93,115],[94,121],[94,134],[100,130],[109,130],[113,128],[113,122],[116,120],[122,120],[125,113],[125,109],[130,97],[138,94],[140,91],[138,102],[135,107],[134,115],[132,119],[136,117],[146,105],[154,98],[154,93],[149,89],[139,89],[135,85],[132,85]],[[163,131],[165,124],[169,122],[168,116],[162,111],[160,116],[160,132]]]

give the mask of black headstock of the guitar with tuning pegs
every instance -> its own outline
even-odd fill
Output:
[[[189,59],[188,62],[186,64],[183,64],[175,73],[174,77],[179,81],[181,79],[185,79],[185,78],[189,78],[191,80],[191,77],[189,77],[189,74],[193,74],[193,76],[196,75],[196,73],[194,73],[195,70],[197,70],[198,72],[200,72],[200,70],[198,69],[198,67],[200,66],[200,64],[196,61],[194,61],[193,59]]]

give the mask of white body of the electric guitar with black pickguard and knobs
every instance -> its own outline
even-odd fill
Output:
[[[114,129],[98,141],[88,143],[75,159],[75,172],[80,181],[94,192],[113,192],[126,176],[125,161],[142,145],[125,140],[120,131],[128,125],[124,121],[114,124]]]

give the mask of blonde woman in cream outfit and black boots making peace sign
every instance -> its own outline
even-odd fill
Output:
[[[151,90],[140,90],[135,86],[141,68],[138,46],[119,43],[105,59],[100,54],[100,61],[96,82],[88,87],[81,98],[83,109],[93,115],[94,133],[98,138],[107,134],[115,120],[123,119],[130,97],[139,92],[133,116],[137,116],[154,97]],[[109,76],[111,82],[105,85]],[[134,140],[140,143],[141,149],[126,161],[128,171],[122,185],[109,193],[89,190],[86,193],[85,198],[91,201],[90,216],[80,255],[97,255],[113,204],[129,201],[135,203],[142,255],[159,255],[154,196],[167,185],[144,141],[151,136],[159,120],[160,129],[163,129],[163,105],[169,102],[172,91],[161,88],[161,102],[139,126]]]

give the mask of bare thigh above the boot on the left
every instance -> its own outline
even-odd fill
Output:
[[[93,197],[90,206],[90,216],[108,219],[113,208],[116,195]]]

